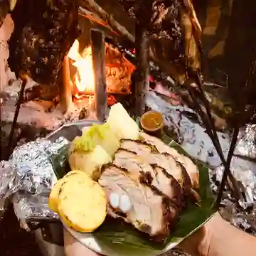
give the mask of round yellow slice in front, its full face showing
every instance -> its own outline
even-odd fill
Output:
[[[107,198],[99,183],[87,175],[67,178],[58,196],[58,213],[65,225],[81,233],[97,229],[107,215]]]

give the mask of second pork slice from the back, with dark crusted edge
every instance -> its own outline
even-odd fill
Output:
[[[134,151],[134,153],[141,156],[144,161],[149,164],[164,169],[167,174],[176,178],[186,193],[189,193],[191,189],[191,179],[188,176],[186,169],[176,161],[173,156],[168,153],[158,154],[156,153],[157,149],[154,149],[154,146],[151,146],[146,142],[135,141],[132,139],[123,139],[120,146],[123,149]]]

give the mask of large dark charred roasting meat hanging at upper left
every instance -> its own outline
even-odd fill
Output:
[[[26,14],[26,15],[24,15]],[[63,59],[79,36],[76,1],[20,0],[11,13],[9,67],[38,83],[55,84]]]

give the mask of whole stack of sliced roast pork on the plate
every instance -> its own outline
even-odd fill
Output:
[[[140,134],[142,140],[121,140],[98,182],[107,194],[108,215],[162,241],[198,183],[197,167],[159,139]]]

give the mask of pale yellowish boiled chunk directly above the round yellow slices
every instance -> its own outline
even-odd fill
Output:
[[[99,145],[87,152],[72,151],[68,157],[71,169],[83,171],[95,180],[100,177],[100,166],[111,161],[112,157]]]

